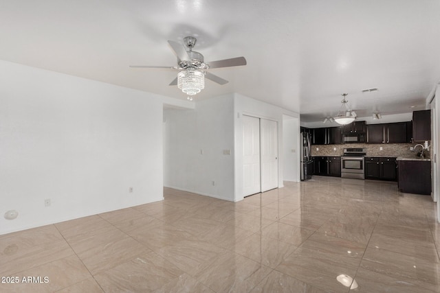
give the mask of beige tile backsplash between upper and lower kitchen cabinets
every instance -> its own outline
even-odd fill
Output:
[[[410,147],[416,143],[346,143],[340,145],[311,145],[312,156],[342,156],[344,148],[366,148],[366,156],[416,156],[417,153],[410,151]],[[382,150],[380,148],[382,147]],[[319,150],[316,150],[318,148]],[[336,150],[333,150],[336,148]],[[417,148],[420,151],[420,148]],[[425,156],[430,154],[425,152]]]

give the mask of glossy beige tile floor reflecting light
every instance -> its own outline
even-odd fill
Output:
[[[440,292],[435,204],[396,183],[164,197],[1,235],[0,292]]]

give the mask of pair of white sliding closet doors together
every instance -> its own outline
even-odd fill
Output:
[[[243,115],[243,196],[278,187],[278,123]]]

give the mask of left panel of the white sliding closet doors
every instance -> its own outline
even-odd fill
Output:
[[[243,196],[260,190],[260,119],[243,115]]]

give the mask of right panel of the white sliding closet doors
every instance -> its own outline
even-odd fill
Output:
[[[260,119],[261,192],[278,187],[278,126]]]

